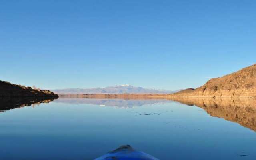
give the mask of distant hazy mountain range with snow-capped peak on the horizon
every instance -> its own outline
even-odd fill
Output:
[[[55,94],[170,94],[178,91],[180,90],[171,91],[147,89],[142,87],[134,87],[128,84],[98,88],[67,88],[52,90],[52,92],[54,92]]]

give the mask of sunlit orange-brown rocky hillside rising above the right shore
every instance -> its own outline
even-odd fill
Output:
[[[256,98],[256,64],[220,78],[213,78],[196,89],[170,94],[170,97]]]

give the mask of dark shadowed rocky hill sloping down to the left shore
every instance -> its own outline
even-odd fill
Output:
[[[0,81],[0,97],[54,97],[57,94],[49,90],[34,90],[31,87],[11,84],[9,82]]]

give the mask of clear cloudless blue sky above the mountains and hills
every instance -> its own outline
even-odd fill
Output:
[[[256,63],[254,0],[1,0],[0,80],[198,87]]]

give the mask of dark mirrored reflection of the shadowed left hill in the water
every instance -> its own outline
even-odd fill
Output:
[[[36,106],[40,103],[50,103],[56,98],[1,98],[0,97],[0,112],[5,112],[7,110],[15,108],[23,108],[25,106]]]

